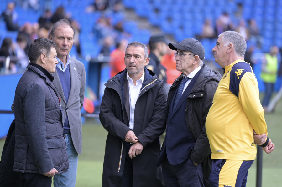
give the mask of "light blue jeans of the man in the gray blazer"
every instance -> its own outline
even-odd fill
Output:
[[[69,169],[62,174],[55,174],[54,187],[75,187],[76,186],[76,172],[78,164],[78,153],[73,146],[70,134],[65,134],[65,144],[69,158]]]

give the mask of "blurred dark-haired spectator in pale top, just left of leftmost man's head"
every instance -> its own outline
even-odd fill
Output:
[[[24,49],[27,47],[28,39],[26,35],[19,33],[17,37],[17,42],[14,43],[14,54],[18,59],[18,68],[26,69],[29,64],[29,58],[25,54]]]

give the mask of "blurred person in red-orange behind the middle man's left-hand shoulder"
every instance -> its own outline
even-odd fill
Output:
[[[124,54],[127,45],[128,41],[126,39],[121,40],[110,54],[111,78],[125,69]]]

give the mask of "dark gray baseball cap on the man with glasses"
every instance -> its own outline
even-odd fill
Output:
[[[177,49],[183,51],[191,51],[192,53],[198,55],[202,60],[205,58],[205,49],[201,42],[199,42],[195,38],[186,38],[182,40],[179,44],[169,43],[169,48],[175,51]]]

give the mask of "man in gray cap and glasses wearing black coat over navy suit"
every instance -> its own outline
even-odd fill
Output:
[[[176,69],[182,74],[168,93],[166,135],[157,166],[162,164],[168,187],[209,186],[211,149],[205,121],[221,75],[203,64],[205,49],[198,40],[186,38],[168,46],[177,51]]]

